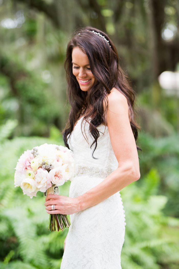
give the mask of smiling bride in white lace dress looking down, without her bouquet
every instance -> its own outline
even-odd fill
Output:
[[[71,111],[63,139],[76,171],[69,197],[49,194],[45,202],[49,214],[70,214],[60,268],[120,269],[126,225],[120,190],[140,178],[134,92],[111,39],[93,27],[75,32],[65,70]]]

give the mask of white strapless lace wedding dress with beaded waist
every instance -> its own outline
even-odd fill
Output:
[[[89,124],[83,121],[84,137],[81,122],[82,118],[68,136],[76,162],[69,197],[77,197],[92,189],[118,167],[107,126],[101,124],[97,127],[100,137],[94,157],[98,159],[94,159],[93,148],[90,149],[93,138],[89,133]],[[120,254],[126,223],[120,192],[95,206],[71,214],[70,221],[60,269],[121,269]]]

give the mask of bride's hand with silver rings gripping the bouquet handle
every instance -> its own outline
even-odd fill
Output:
[[[45,209],[48,214],[70,215],[81,211],[78,197],[48,194],[45,201]],[[55,205],[55,210],[52,210],[52,204]]]

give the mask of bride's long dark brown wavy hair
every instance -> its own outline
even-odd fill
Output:
[[[109,43],[91,31],[100,33]],[[79,47],[87,55],[91,72],[96,78],[96,82],[88,91],[80,89],[79,83],[72,72],[72,50],[74,47]],[[97,139],[100,135],[97,127],[101,123],[107,125],[105,114],[108,107],[107,95],[114,87],[127,98],[130,125],[136,141],[139,126],[134,120],[134,91],[127,80],[127,75],[119,66],[118,52],[109,36],[94,27],[78,28],[67,45],[64,67],[68,83],[67,95],[71,105],[68,122],[63,130],[65,146],[69,148],[67,136],[72,133],[77,120],[84,116],[82,122],[85,120],[89,123],[89,130],[94,138],[90,146],[92,148],[93,144],[95,144],[94,153],[97,147]],[[104,99],[106,103],[105,111],[103,109]],[[88,121],[89,118],[91,119],[90,121]],[[139,147],[137,149],[140,150]],[[92,157],[97,159],[93,156],[93,153]]]

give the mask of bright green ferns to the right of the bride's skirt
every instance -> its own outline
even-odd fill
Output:
[[[174,247],[170,233],[173,218],[162,213],[167,197],[156,195],[160,177],[156,169],[121,190],[126,214],[126,235],[122,249],[122,268],[177,268],[179,245]],[[179,221],[175,223],[178,228]],[[174,227],[173,227],[174,228]]]

